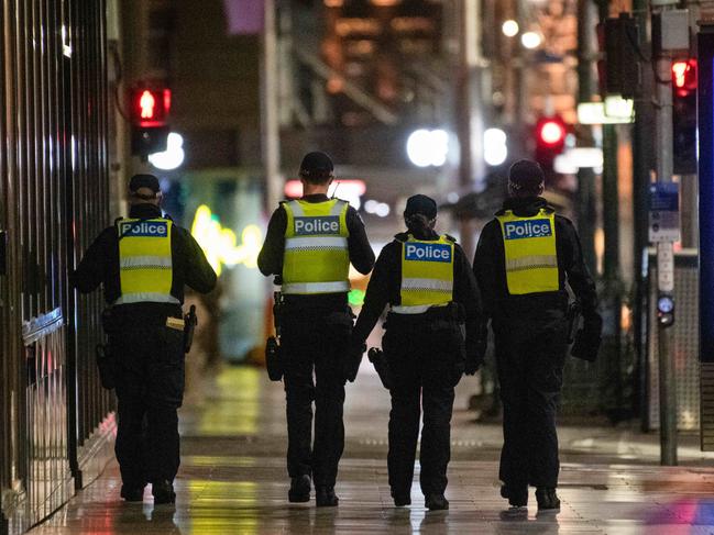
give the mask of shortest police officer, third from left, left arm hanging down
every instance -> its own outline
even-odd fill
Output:
[[[433,230],[436,202],[422,194],[410,197],[404,219],[407,232],[382,249],[367,285],[348,376],[354,380],[363,344],[388,304],[382,347],[392,395],[387,457],[392,497],[396,506],[411,503],[421,409],[421,491],[429,510],[443,510],[449,509],[443,493],[454,387],[464,370],[475,374],[483,358],[480,296],[461,247]]]

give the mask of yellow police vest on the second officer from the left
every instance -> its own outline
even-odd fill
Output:
[[[350,291],[347,210],[339,199],[284,202],[287,214],[283,286],[285,294]]]

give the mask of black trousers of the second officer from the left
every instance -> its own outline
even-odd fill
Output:
[[[342,364],[351,327],[345,310],[312,314],[288,310],[283,320],[287,471],[290,478],[311,475],[316,487],[334,487],[344,449]]]

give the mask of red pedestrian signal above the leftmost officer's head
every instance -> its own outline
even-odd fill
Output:
[[[171,89],[138,85],[130,91],[131,152],[140,156],[166,151]]]

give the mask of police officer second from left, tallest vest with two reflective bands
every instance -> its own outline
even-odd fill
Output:
[[[281,350],[286,363],[288,499],[309,501],[312,477],[317,505],[334,506],[344,447],[342,369],[352,331],[348,271],[352,263],[369,274],[374,253],[356,211],[327,197],[334,179],[330,157],[308,153],[299,176],[304,196],[282,202],[273,212],[257,265],[263,275],[277,276],[284,300]]]

